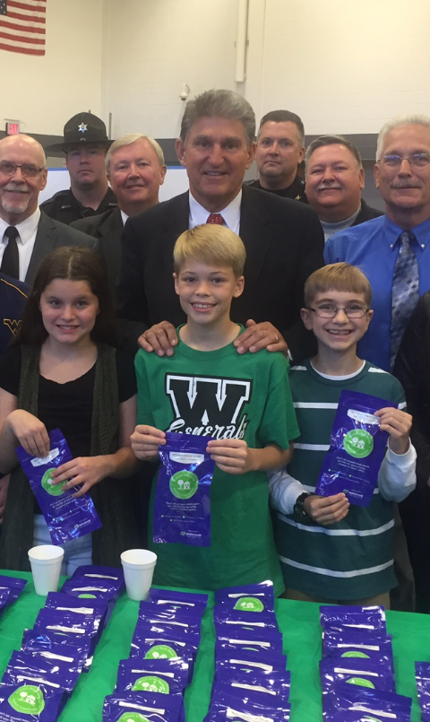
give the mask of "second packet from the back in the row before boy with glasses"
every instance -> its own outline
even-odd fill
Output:
[[[362,635],[357,631],[324,631],[323,657],[362,657],[376,661],[380,659],[394,670],[389,634],[384,639],[369,639],[368,633]]]

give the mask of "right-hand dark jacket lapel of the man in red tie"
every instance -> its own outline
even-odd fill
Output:
[[[265,191],[254,190],[247,186],[242,189],[239,235],[246,248],[246,293],[257,283],[264,258],[271,245],[272,233],[268,228],[271,216],[261,202],[261,193]]]

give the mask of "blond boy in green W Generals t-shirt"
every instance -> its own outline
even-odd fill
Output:
[[[187,321],[174,356],[136,355],[138,426],[132,436],[141,459],[158,457],[166,431],[214,438],[211,545],[154,544],[154,582],[216,589],[270,578],[283,590],[271,526],[267,474],[291,457],[298,435],[281,353],[237,353],[241,326],[230,306],[244,289],[245,247],[217,225],[185,231],[174,250],[175,289]]]

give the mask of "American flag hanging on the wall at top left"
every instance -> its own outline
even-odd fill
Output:
[[[47,0],[0,0],[0,50],[45,55]]]

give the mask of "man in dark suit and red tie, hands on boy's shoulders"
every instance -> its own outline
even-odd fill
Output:
[[[283,334],[294,358],[307,351],[299,309],[305,279],[323,265],[323,233],[305,204],[243,186],[254,160],[254,134],[254,111],[237,93],[206,91],[189,101],[176,141],[189,193],[125,225],[120,310],[142,330],[156,325],[140,339],[147,351],[173,352],[171,324],[185,316],[172,282],[172,251],[182,231],[205,222],[223,223],[245,243],[245,291],[232,306],[232,318],[248,322],[236,339],[238,351],[285,351]]]

